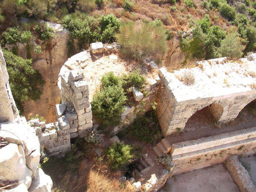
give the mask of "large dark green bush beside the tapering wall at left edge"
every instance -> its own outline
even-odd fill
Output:
[[[34,70],[31,60],[24,60],[10,51],[3,49],[6,67],[10,76],[10,87],[17,107],[22,111],[26,100],[40,99],[44,88],[44,79]]]

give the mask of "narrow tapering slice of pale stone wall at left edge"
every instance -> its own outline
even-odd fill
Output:
[[[19,122],[19,111],[13,100],[3,52],[0,47],[0,122]]]

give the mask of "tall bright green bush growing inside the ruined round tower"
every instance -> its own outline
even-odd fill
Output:
[[[93,115],[104,126],[118,124],[125,109],[127,98],[120,82],[120,77],[111,72],[106,74],[102,77],[100,92],[93,97]]]

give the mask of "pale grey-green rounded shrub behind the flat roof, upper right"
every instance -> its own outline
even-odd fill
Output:
[[[241,45],[240,39],[236,33],[231,33],[221,42],[218,54],[228,58],[241,58],[243,56],[244,46]]]

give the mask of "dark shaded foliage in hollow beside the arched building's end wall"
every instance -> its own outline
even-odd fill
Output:
[[[118,133],[118,136],[156,144],[161,138],[161,131],[155,111],[148,111],[145,115],[138,116],[129,127]]]

